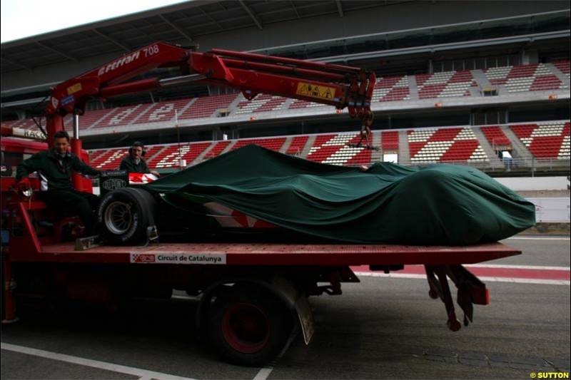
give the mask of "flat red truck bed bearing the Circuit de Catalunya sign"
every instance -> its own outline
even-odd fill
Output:
[[[502,243],[461,247],[337,244],[158,243],[143,246],[97,246],[75,250],[74,243],[41,246],[34,255],[12,261],[99,262],[181,265],[461,265],[520,255]]]

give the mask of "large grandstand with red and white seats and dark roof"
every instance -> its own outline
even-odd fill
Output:
[[[54,82],[154,41],[190,41],[201,50],[373,69],[378,150],[353,146],[360,123],[346,110],[268,94],[248,101],[231,88],[192,85],[88,103],[79,127],[94,166],[117,168],[129,143],[142,140],[149,167],[163,173],[255,143],[332,165],[397,160],[460,163],[492,175],[568,175],[567,1],[480,4],[191,1],[2,43],[2,124],[37,128],[41,107],[34,106]],[[202,29],[192,14],[203,15]],[[70,115],[64,122],[71,129]]]

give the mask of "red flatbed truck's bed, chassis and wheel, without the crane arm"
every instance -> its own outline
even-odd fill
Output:
[[[460,329],[457,302],[473,319],[473,304],[488,304],[485,284],[463,264],[521,252],[500,243],[465,247],[397,245],[151,243],[110,247],[91,241],[49,242],[34,227],[42,202],[14,203],[9,250],[4,252],[5,318],[16,317],[16,299],[65,294],[115,307],[128,297],[169,298],[173,289],[201,295],[197,322],[218,353],[235,364],[271,361],[299,324],[305,343],[313,336],[308,297],[341,294],[343,282],[359,282],[351,266],[390,272],[424,265],[430,297],[443,300],[448,327]],[[15,232],[15,233],[14,233]],[[44,243],[42,242],[44,241]]]

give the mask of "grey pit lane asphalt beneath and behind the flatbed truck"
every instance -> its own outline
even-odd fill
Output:
[[[523,255],[490,264],[570,267],[569,237],[504,242]],[[196,300],[176,298],[139,300],[119,315],[91,307],[71,307],[63,318],[22,310],[21,321],[2,326],[1,378],[530,379],[532,372],[569,371],[569,285],[487,282],[490,305],[475,307],[470,327],[450,332],[425,280],[361,281],[343,284],[343,296],[310,298],[313,342],[305,346],[298,334],[266,369],[219,361],[197,339]],[[46,352],[54,355],[40,355]]]

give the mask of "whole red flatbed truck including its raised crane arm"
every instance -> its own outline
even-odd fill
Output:
[[[126,82],[152,68],[175,66],[191,74]],[[87,101],[186,81],[239,88],[248,99],[263,92],[348,107],[351,117],[363,120],[362,130],[372,121],[372,72],[232,51],[196,53],[155,43],[56,86],[46,108],[48,141],[64,129],[64,115],[73,113],[77,117],[72,151],[88,160],[79,140],[79,115]],[[34,148],[26,152],[34,153]],[[358,282],[350,266],[369,265],[372,270],[390,272],[404,265],[424,265],[429,295],[443,300],[448,326],[457,331],[461,324],[447,277],[458,287],[457,302],[468,324],[473,304],[487,304],[489,297],[485,284],[462,265],[521,253],[500,243],[409,247],[153,242],[109,247],[89,237],[63,242],[61,225],[69,220],[41,225],[41,220],[50,219],[46,205],[34,196],[19,200],[11,192],[13,183],[14,178],[2,178],[6,224],[2,228],[8,238],[2,246],[3,323],[17,320],[16,304],[25,297],[49,300],[63,295],[114,307],[128,297],[168,298],[173,290],[183,290],[201,295],[197,322],[218,353],[243,365],[271,361],[283,349],[294,324],[300,324],[305,342],[310,342],[313,317],[308,297],[341,294],[343,282]],[[74,186],[86,188],[79,176]]]

